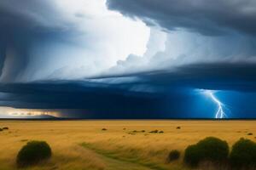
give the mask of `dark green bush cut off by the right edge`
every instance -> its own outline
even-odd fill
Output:
[[[249,139],[239,139],[230,152],[232,167],[249,169],[256,166],[256,143]]]

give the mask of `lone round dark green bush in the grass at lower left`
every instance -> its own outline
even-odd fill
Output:
[[[16,163],[19,167],[27,167],[49,159],[50,156],[49,144],[44,141],[31,141],[21,148]]]

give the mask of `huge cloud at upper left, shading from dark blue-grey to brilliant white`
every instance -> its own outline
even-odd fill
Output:
[[[113,66],[116,58],[143,54],[148,41],[143,22],[108,11],[104,1],[3,0],[0,13],[2,82],[86,77]],[[131,33],[133,45],[123,48]]]

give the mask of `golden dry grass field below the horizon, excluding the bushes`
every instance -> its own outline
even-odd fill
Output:
[[[241,137],[256,140],[256,121],[0,121],[0,127],[9,127],[0,132],[1,170],[17,169],[15,157],[28,140],[45,140],[53,151],[49,161],[26,168],[37,170],[186,170],[182,158],[166,162],[170,150],[183,153],[207,136],[230,146]],[[164,133],[148,133],[155,129]]]

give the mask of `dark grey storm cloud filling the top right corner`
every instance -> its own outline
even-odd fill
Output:
[[[148,25],[177,28],[214,36],[238,31],[256,35],[256,2],[253,0],[108,0],[108,8]]]

